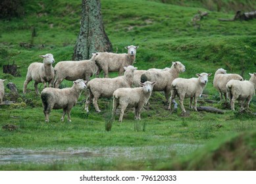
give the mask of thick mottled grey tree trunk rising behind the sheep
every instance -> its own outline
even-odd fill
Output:
[[[105,33],[100,0],[82,0],[80,34],[74,47],[74,60],[91,58],[91,53],[110,52],[112,45]]]

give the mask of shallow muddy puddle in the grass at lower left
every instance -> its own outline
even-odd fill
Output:
[[[59,151],[30,151],[14,150],[6,153],[0,153],[0,163],[7,162],[52,162],[54,160],[67,160],[71,158],[91,158],[99,157],[103,154],[79,151],[79,152],[59,152]]]

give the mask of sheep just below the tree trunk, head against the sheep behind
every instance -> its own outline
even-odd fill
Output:
[[[55,81],[54,87],[59,88],[63,80],[74,81],[84,79],[90,81],[90,77],[95,74],[97,65],[95,64],[95,57],[97,53],[93,53],[90,60],[79,61],[61,61],[55,67]]]

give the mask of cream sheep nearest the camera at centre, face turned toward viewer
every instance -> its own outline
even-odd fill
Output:
[[[135,108],[135,118],[140,120],[141,109],[149,100],[153,85],[155,85],[155,82],[145,81],[140,83],[141,87],[116,89],[113,93],[113,114],[115,115],[116,108],[120,106],[119,122],[122,122],[124,110],[128,105]]]

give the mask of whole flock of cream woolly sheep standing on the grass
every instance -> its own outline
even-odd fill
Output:
[[[93,53],[90,60],[59,61],[54,68],[55,59],[52,54],[40,55],[43,62],[34,62],[28,66],[23,93],[27,93],[28,83],[34,80],[35,91],[39,94],[38,83],[43,83],[44,89],[40,96],[45,122],[49,122],[52,109],[63,109],[61,121],[64,121],[64,116],[67,114],[68,122],[71,122],[71,109],[78,102],[82,91],[85,90],[89,94],[85,102],[86,112],[89,112],[91,103],[95,111],[101,112],[98,105],[99,98],[112,99],[114,117],[117,108],[120,108],[120,122],[123,120],[126,108],[134,108],[135,119],[140,120],[141,110],[148,105],[149,98],[154,91],[165,93],[170,112],[173,112],[172,106],[176,97],[178,97],[183,113],[186,112],[184,108],[186,98],[190,99],[190,108],[197,111],[197,99],[202,95],[208,78],[211,76],[210,73],[201,71],[201,74],[195,74],[197,78],[180,78],[179,74],[185,72],[186,67],[179,61],[172,62],[170,68],[138,70],[133,65],[139,47],[130,45],[125,48],[128,53]],[[99,78],[101,71],[103,71],[104,78]],[[109,72],[118,72],[118,77],[109,78]],[[92,78],[93,76],[95,78]],[[213,87],[220,94],[220,100],[224,95],[225,101],[229,101],[231,110],[235,110],[234,103],[237,100],[242,110],[249,108],[249,103],[255,95],[256,73],[250,76],[251,78],[247,81],[238,74],[227,74],[223,68],[216,70]],[[64,80],[73,81],[72,87],[59,89]],[[3,103],[5,95],[4,81],[0,79],[0,104]]]

